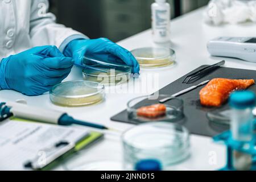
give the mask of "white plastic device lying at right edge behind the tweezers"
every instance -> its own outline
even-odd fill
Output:
[[[218,37],[207,49],[212,56],[234,57],[256,63],[256,37]]]

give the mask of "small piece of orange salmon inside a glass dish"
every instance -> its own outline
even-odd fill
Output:
[[[146,118],[157,118],[166,114],[166,106],[164,104],[155,104],[137,109],[137,115]]]

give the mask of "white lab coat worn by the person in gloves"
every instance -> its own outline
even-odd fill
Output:
[[[60,47],[72,35],[81,35],[55,23],[55,16],[47,13],[48,4],[48,0],[0,0],[0,62],[35,46]]]

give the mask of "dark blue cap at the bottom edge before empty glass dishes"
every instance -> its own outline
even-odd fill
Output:
[[[135,166],[136,171],[161,171],[161,164],[158,160],[146,159],[139,161]]]

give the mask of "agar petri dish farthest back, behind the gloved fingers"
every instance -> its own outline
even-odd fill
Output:
[[[131,51],[142,68],[161,68],[175,64],[176,54],[170,48],[144,47]]]

